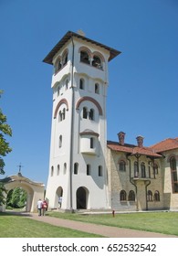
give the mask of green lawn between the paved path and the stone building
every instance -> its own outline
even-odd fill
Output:
[[[81,215],[51,211],[47,215],[60,219],[73,219],[111,227],[138,229],[178,236],[178,212],[118,213],[115,214],[114,218],[111,213]]]

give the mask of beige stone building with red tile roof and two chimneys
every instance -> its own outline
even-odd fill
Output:
[[[152,146],[127,144],[126,134],[118,142],[107,142],[111,207],[118,210],[178,209],[178,138]]]

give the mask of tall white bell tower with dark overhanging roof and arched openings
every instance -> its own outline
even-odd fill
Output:
[[[54,66],[46,197],[49,208],[110,208],[106,165],[108,62],[120,51],[68,31],[43,60]]]

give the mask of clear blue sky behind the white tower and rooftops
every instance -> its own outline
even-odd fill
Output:
[[[121,51],[110,61],[108,140],[178,137],[177,14],[177,0],[0,0],[0,103],[13,130],[5,176],[21,163],[47,184],[53,68],[42,60],[68,30]]]

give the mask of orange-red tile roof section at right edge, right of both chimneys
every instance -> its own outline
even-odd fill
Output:
[[[153,144],[150,146],[156,153],[160,153],[167,150],[178,149],[178,137],[177,138],[168,138],[163,140],[158,144]]]

